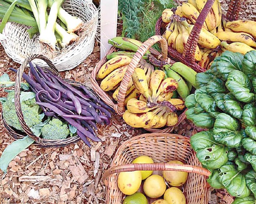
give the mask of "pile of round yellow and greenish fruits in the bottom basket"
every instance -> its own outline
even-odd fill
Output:
[[[139,156],[132,163],[153,163],[153,160],[148,156]],[[177,160],[169,163],[183,164]],[[187,181],[187,172],[163,171],[163,176],[152,173],[152,170],[119,173],[118,187],[127,195],[123,204],[148,204],[147,197],[155,199],[152,204],[186,204],[185,195],[178,187]],[[166,184],[171,187],[167,188]]]

